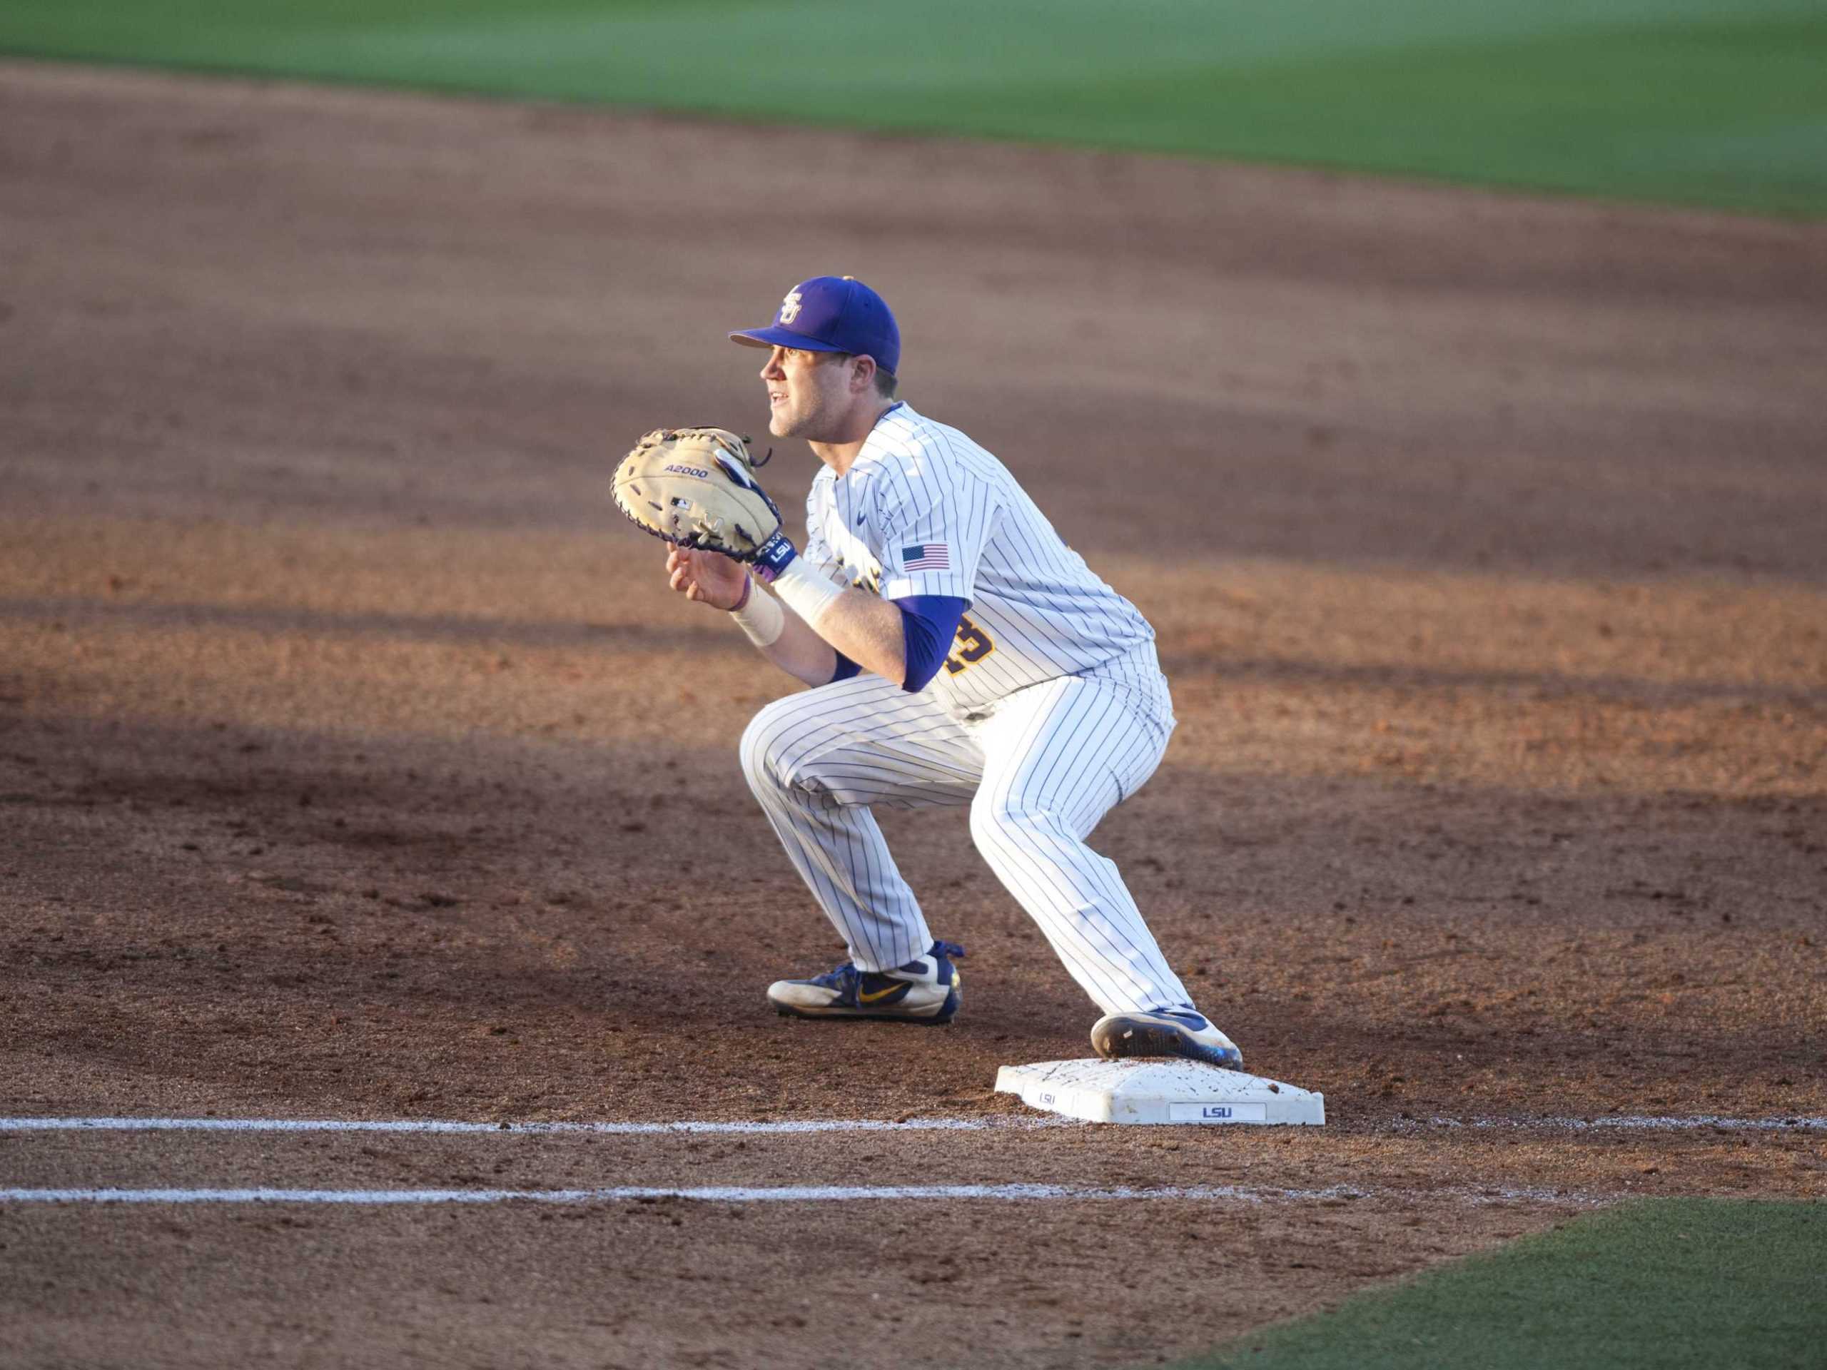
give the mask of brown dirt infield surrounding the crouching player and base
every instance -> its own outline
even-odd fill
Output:
[[[1827,228],[33,66],[0,192],[0,1114],[987,1123],[0,1131],[0,1187],[1235,1191],[0,1202],[0,1361],[1131,1365],[1827,1195],[1807,1127],[1571,1125],[1827,1116]],[[1005,1125],[1094,1012],[959,813],[886,820],[957,1023],[764,1010],[837,954],[734,765],[789,681],[605,473],[762,429],[723,331],[822,270],[1156,625],[1096,840],[1325,1131]]]

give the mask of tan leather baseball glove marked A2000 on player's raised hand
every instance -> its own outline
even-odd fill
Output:
[[[667,543],[755,561],[780,532],[780,510],[755,482],[766,460],[727,427],[656,427],[616,468],[616,504]]]

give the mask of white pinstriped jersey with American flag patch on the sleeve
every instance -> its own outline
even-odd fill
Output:
[[[1069,548],[996,457],[897,404],[806,499],[806,557],[884,599],[968,599],[932,690],[963,716],[1058,676],[1122,670],[1147,619]],[[1098,672],[1102,674],[1102,672]]]

